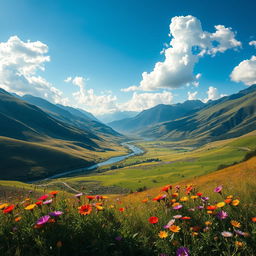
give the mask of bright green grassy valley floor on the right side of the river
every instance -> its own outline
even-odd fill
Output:
[[[88,182],[100,182],[103,186],[120,186],[137,190],[140,187],[159,187],[188,178],[202,176],[215,171],[221,164],[231,164],[243,159],[244,155],[256,145],[256,133],[238,139],[229,139],[207,144],[192,151],[168,149],[167,142],[143,142],[148,152],[125,162],[145,160],[151,157],[161,162],[143,163],[100,174],[63,178],[69,184],[86,186]]]

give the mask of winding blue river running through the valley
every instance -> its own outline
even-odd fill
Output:
[[[74,170],[70,170],[70,171],[61,172],[61,173],[49,176],[48,178],[35,180],[35,181],[30,182],[30,183],[35,183],[35,182],[39,182],[39,181],[46,181],[46,180],[49,180],[49,179],[56,179],[56,178],[60,178],[60,177],[70,175],[70,174],[75,174],[75,173],[82,174],[86,171],[91,171],[91,170],[97,169],[98,167],[101,167],[101,166],[114,164],[114,163],[120,162],[120,161],[122,161],[126,158],[129,158],[131,156],[140,155],[140,154],[144,153],[143,149],[141,149],[141,148],[139,148],[139,147],[137,147],[133,144],[130,144],[130,142],[124,142],[124,143],[122,143],[122,146],[129,148],[132,152],[127,154],[127,155],[123,155],[123,156],[111,157],[106,161],[103,161],[103,162],[100,162],[100,163],[97,163],[97,164],[93,164],[93,165],[88,166],[88,167],[83,167],[83,168],[78,168],[78,169],[74,169]]]

